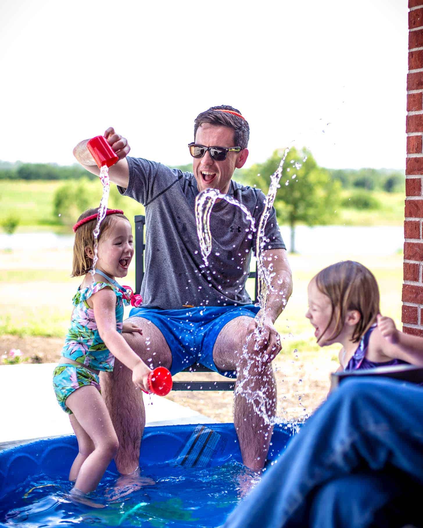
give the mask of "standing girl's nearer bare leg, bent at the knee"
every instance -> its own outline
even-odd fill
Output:
[[[81,429],[85,431],[94,445],[94,450],[82,460],[75,482],[75,487],[80,492],[89,493],[96,489],[107,466],[116,455],[119,446],[117,436],[106,404],[93,385],[86,385],[72,392],[66,400],[66,405],[75,414],[80,426],[74,429],[78,445],[80,441],[82,445],[87,445],[86,436],[81,434]],[[78,460],[77,456],[73,463],[75,470],[81,458]]]

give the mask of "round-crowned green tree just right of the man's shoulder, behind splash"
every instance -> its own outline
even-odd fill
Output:
[[[264,193],[269,190],[270,176],[277,170],[283,150],[275,150],[262,164],[247,169],[244,176],[250,185]],[[274,207],[279,223],[287,222],[291,229],[291,252],[295,252],[295,228],[328,224],[337,216],[341,182],[333,180],[326,169],[317,166],[311,153],[303,148],[291,148],[282,168],[280,188]]]

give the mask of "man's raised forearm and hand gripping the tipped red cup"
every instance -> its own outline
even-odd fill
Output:
[[[109,178],[116,185],[126,188],[129,182],[129,167],[128,162],[126,161],[126,156],[129,154],[131,147],[128,145],[128,142],[124,137],[115,133],[115,130],[112,127],[109,127],[105,131],[104,136],[107,139],[107,143],[112,147],[116,156],[119,158],[114,165],[109,167]],[[91,153],[88,150],[88,142],[89,139],[84,139],[79,142],[73,149],[73,155],[78,162],[87,169],[87,171],[98,176],[100,174],[100,169],[97,167],[93,156],[91,156]]]

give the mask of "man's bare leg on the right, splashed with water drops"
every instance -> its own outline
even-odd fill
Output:
[[[236,317],[227,323],[217,336],[213,359],[219,369],[237,371],[234,424],[242,460],[245,466],[260,471],[266,461],[273,432],[276,383],[272,364],[258,361],[253,338],[243,354],[250,323],[250,317]],[[242,390],[238,392],[237,388]],[[257,409],[259,412],[256,412]]]

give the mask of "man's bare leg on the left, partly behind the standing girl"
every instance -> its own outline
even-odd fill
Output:
[[[162,333],[147,319],[131,317],[140,333],[122,334],[132,350],[150,367],[170,369],[172,354]],[[132,383],[132,372],[117,359],[112,373],[103,373],[102,394],[119,440],[115,458],[119,473],[128,475],[138,467],[141,437],[145,426],[142,392]]]

